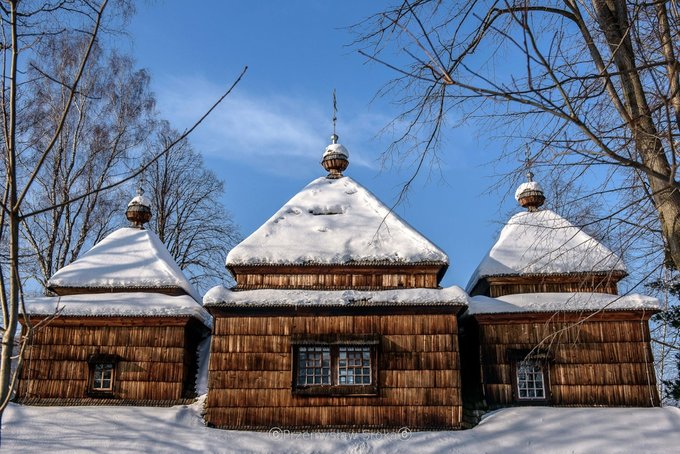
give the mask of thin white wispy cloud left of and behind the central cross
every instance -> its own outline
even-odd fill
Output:
[[[221,89],[201,77],[167,78],[156,88],[158,107],[177,129],[184,129],[220,96]],[[350,151],[352,165],[377,167],[376,158],[384,148],[376,144],[373,152],[364,150],[375,144],[376,131],[387,121],[386,116],[360,113],[341,123],[341,142]],[[322,109],[315,100],[265,96],[237,87],[194,132],[191,141],[205,154],[258,167],[273,157],[316,166],[331,129],[328,108]],[[289,164],[286,160],[280,163]],[[276,168],[271,170],[279,173]]]

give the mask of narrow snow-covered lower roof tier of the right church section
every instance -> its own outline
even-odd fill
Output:
[[[579,312],[599,310],[658,310],[659,300],[651,296],[607,293],[519,293],[497,298],[470,297],[469,314],[516,312]]]

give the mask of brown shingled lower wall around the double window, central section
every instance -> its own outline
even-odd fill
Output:
[[[292,392],[292,334],[381,336],[378,396]],[[455,315],[216,317],[206,420],[222,428],[457,428]]]

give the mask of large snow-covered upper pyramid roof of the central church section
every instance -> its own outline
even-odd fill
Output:
[[[349,177],[312,181],[227,256],[228,266],[357,262],[448,257]]]

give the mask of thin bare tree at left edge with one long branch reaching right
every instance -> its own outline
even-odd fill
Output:
[[[128,11],[130,5],[123,3],[116,11]],[[113,3],[113,2],[112,2]],[[21,288],[22,264],[25,258],[21,255],[22,226],[32,217],[54,210],[73,206],[93,194],[109,191],[128,181],[133,180],[143,173],[156,160],[169,152],[179,142],[184,140],[198,125],[226,98],[245,74],[247,67],[224,92],[224,94],[210,106],[196,122],[180,134],[176,140],[168,144],[162,150],[158,150],[151,159],[145,161],[137,170],[126,172],[108,178],[98,187],[80,188],[79,194],[69,196],[68,200],[57,203],[44,201],[42,206],[29,208],[32,191],[37,187],[40,174],[50,159],[55,149],[58,148],[59,138],[62,131],[67,127],[69,112],[74,107],[80,83],[84,77],[88,62],[95,49],[98,35],[105,26],[104,12],[107,9],[108,0],[54,0],[54,1],[30,1],[8,0],[0,4],[0,21],[2,28],[2,99],[0,99],[0,125],[3,146],[2,176],[3,193],[0,203],[0,244],[7,245],[6,255],[2,257],[0,264],[0,306],[2,309],[2,348],[0,350],[0,422],[4,409],[12,396],[18,371],[21,367],[22,352],[17,356],[17,367],[12,373],[13,353],[15,347],[16,330],[19,316],[25,311],[20,311],[23,306],[23,292]],[[79,30],[85,36],[87,44],[76,58],[72,78],[61,85],[64,101],[61,110],[55,114],[54,129],[45,131],[45,139],[38,143],[26,141],[35,145],[36,149],[28,151],[22,142],[22,132],[19,127],[26,123],[22,121],[24,114],[22,105],[22,93],[28,90],[33,81],[25,77],[26,68],[23,63],[24,56],[30,58],[32,49],[37,43],[49,36],[63,35],[67,30]],[[42,74],[43,77],[55,79],[50,74]],[[35,160],[23,159],[25,153],[32,153]],[[5,252],[5,251],[3,251]],[[20,349],[27,345],[31,336],[31,323],[26,317],[27,329],[22,336]]]

